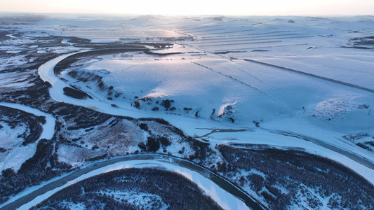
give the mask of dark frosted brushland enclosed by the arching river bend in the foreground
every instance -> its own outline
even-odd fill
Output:
[[[122,169],[95,176],[32,209],[63,209],[72,204],[84,209],[221,209],[196,184],[159,169]]]

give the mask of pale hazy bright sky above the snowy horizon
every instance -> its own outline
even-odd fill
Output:
[[[0,11],[140,15],[374,15],[373,0],[0,0]]]

